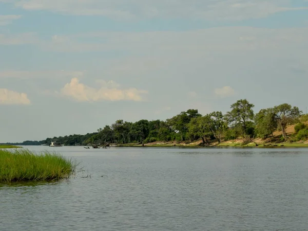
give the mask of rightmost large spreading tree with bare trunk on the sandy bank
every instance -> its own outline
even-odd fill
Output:
[[[301,111],[297,106],[292,106],[287,103],[280,104],[274,107],[275,119],[282,131],[282,136],[286,139],[286,126],[292,124],[295,119],[299,118]]]

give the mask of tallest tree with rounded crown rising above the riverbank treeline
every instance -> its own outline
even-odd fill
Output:
[[[254,104],[246,99],[240,99],[231,105],[231,111],[227,112],[226,120],[234,126],[240,125],[242,135],[247,135],[247,122],[254,119]]]

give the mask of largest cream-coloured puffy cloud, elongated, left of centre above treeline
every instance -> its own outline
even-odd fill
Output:
[[[142,94],[147,94],[147,91],[129,88],[120,90],[118,88],[93,88],[79,82],[78,78],[72,78],[70,83],[67,83],[61,90],[61,94],[71,97],[77,101],[143,101]]]

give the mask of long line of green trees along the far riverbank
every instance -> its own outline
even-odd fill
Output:
[[[284,103],[273,108],[253,111],[254,104],[246,99],[236,101],[230,106],[226,114],[213,112],[201,115],[198,110],[190,109],[186,112],[163,120],[137,122],[123,120],[115,121],[111,126],[100,128],[97,132],[86,135],[69,135],[47,138],[41,141],[24,141],[12,145],[42,145],[50,144],[51,139],[59,139],[64,145],[75,144],[106,144],[106,143],[151,143],[155,141],[193,141],[203,140],[208,144],[212,140],[220,143],[222,140],[243,138],[248,143],[254,138],[268,138],[277,130],[282,132],[280,139],[308,139],[308,114],[303,115],[296,106]],[[286,127],[296,125],[294,137],[287,137]]]

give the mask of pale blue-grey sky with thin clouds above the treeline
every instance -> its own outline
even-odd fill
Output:
[[[307,0],[0,0],[0,143],[308,106]]]

